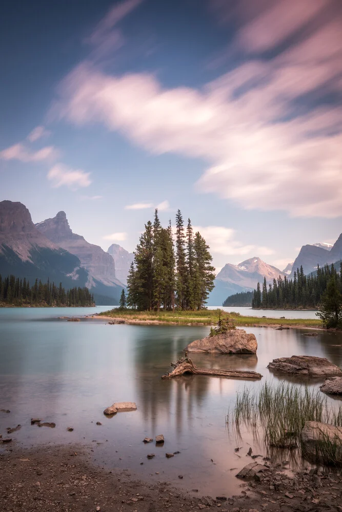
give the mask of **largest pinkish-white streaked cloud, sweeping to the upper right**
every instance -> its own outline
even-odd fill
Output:
[[[152,154],[202,158],[197,190],[246,209],[340,216],[342,107],[327,101],[342,99],[334,5],[253,3],[230,49],[242,63],[202,89],[165,89],[151,74],[112,76],[84,62],[54,112],[76,125],[102,122]]]

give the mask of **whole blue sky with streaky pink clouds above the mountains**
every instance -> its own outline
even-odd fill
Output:
[[[0,200],[33,222],[132,251],[179,208],[217,269],[342,232],[340,0],[13,0],[0,45]]]

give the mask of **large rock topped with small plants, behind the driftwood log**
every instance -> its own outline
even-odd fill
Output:
[[[257,348],[258,344],[254,334],[247,334],[244,329],[232,329],[216,336],[195,339],[184,350],[218,354],[256,354]]]

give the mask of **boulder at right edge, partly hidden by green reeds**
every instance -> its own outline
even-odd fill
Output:
[[[342,460],[342,426],[334,426],[318,421],[306,421],[301,431],[304,456],[314,462],[324,462],[322,442],[334,444],[334,459]]]

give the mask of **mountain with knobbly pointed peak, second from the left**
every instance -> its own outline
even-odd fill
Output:
[[[73,233],[64,211],[52,219],[35,224],[36,229],[54,244],[77,256],[88,272],[86,286],[97,294],[118,300],[124,285],[116,278],[113,258],[98,245]]]

